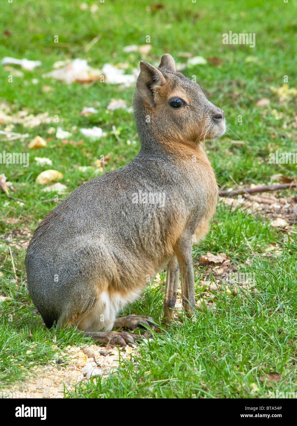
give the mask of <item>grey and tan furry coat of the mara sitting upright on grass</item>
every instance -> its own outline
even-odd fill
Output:
[[[170,58],[164,58],[163,63],[172,68]],[[146,63],[142,67],[147,76]],[[164,66],[158,72],[166,80],[162,87],[153,76],[147,82],[139,77],[153,105],[138,90],[134,95],[139,154],[126,166],[75,189],[34,232],[25,260],[28,288],[48,327],[69,322],[93,331],[94,324],[100,322],[86,320],[86,326],[83,319],[100,315],[95,312],[97,303],[106,309],[106,297],[112,295],[114,309],[121,308],[168,262],[165,317],[172,316],[168,308],[174,308],[179,269],[183,304],[187,311],[195,304],[193,235],[199,239],[206,232],[200,232],[200,227],[208,223],[217,200],[217,184],[200,143],[201,129],[206,123],[210,127],[206,137],[221,134],[223,124],[219,128],[211,121],[221,110],[182,74]],[[160,104],[165,92],[158,95],[158,90],[184,91],[191,107],[177,112],[167,101]],[[175,141],[177,153],[172,148]],[[180,154],[183,146],[185,155]],[[197,153],[195,164],[187,150]],[[139,195],[135,194],[139,193],[144,198],[137,200]],[[152,196],[153,202],[149,202],[145,194],[152,193],[157,193],[157,199]],[[106,317],[97,331],[109,331],[113,323],[112,315]]]

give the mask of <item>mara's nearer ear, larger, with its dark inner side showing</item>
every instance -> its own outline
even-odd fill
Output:
[[[166,83],[162,72],[147,62],[140,62],[140,75],[137,78],[136,88],[143,101],[154,107],[154,95],[152,88],[163,86]]]

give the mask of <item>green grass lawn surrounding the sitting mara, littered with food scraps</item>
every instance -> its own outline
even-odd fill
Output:
[[[11,299],[0,302],[0,381],[3,386],[28,377],[31,366],[53,360],[63,363],[60,351],[66,345],[90,342],[75,330],[59,333],[46,330],[40,316],[31,313],[34,307],[26,291],[25,249],[19,245],[20,233],[34,230],[55,205],[43,203],[53,194],[42,192],[43,186],[35,182],[41,171],[51,167],[37,166],[34,157],[50,158],[52,168],[63,173],[61,183],[67,185],[66,192],[70,193],[100,173],[96,167],[82,172],[79,166],[94,166],[100,155],[111,153],[105,169],[116,169],[131,161],[140,147],[132,114],[123,109],[106,112],[111,98],[122,98],[130,106],[133,88],[119,89],[100,82],[66,85],[43,78],[55,61],[84,58],[99,69],[104,63],[128,62],[129,72],[142,59],[158,65],[157,58],[165,52],[180,64],[186,59],[179,56],[179,52],[204,58],[216,56],[222,60],[220,65],[208,60],[205,65],[187,66],[183,72],[190,78],[195,75],[208,99],[223,107],[226,113],[230,134],[206,147],[220,186],[223,189],[234,186],[233,180],[246,186],[258,182],[270,184],[271,176],[277,173],[296,176],[295,164],[268,163],[270,152],[296,151],[296,99],[280,102],[270,89],[270,86],[282,86],[284,75],[288,75],[288,85],[296,87],[296,4],[274,1],[259,4],[254,0],[227,1],[222,5],[214,0],[172,3],[162,1],[163,7],[158,9],[154,6],[156,3],[142,0],[125,4],[106,0],[97,3],[99,9],[94,14],[89,9],[82,11],[81,2],[77,1],[54,5],[49,0],[1,3],[0,58],[41,60],[42,65],[31,72],[21,70],[23,76],[14,75],[1,65],[0,99],[10,106],[11,113],[22,109],[34,115],[49,112],[49,117],[54,120],[57,115],[59,120],[34,128],[15,125],[13,132],[29,133],[25,141],[0,139],[0,152],[4,149],[27,152],[27,142],[36,135],[51,138],[46,148],[30,151],[29,167],[0,165],[0,173],[5,173],[7,180],[13,183],[11,195],[26,201],[22,205],[0,193],[0,271],[3,274],[0,293]],[[6,35],[5,30],[11,35]],[[256,33],[256,47],[223,45],[222,34],[229,31]],[[86,46],[98,34],[100,40],[86,51]],[[59,36],[59,43],[54,43],[55,35]],[[146,44],[147,35],[151,37],[148,55],[123,52],[124,46]],[[8,82],[8,75],[13,75],[12,83]],[[33,79],[37,79],[37,83],[33,83]],[[52,90],[44,92],[43,85]],[[268,98],[270,104],[257,107],[261,98]],[[98,113],[79,116],[83,107],[94,107]],[[239,115],[242,122],[238,122]],[[83,138],[79,129],[94,125],[102,127],[108,135],[94,141]],[[112,132],[113,125],[120,141]],[[72,132],[71,140],[83,139],[83,144],[65,145],[48,133],[49,127],[58,126]],[[2,124],[0,130],[5,127]],[[232,147],[230,138],[244,141],[243,147]],[[128,140],[136,143],[128,144]],[[281,194],[286,196],[288,192]],[[11,249],[17,281],[8,238],[15,243]],[[268,246],[273,243],[280,250],[266,256]],[[163,334],[155,333],[152,341],[139,346],[136,358],[122,362],[117,373],[107,380],[91,379],[66,396],[254,398],[267,397],[268,391],[275,391],[276,387],[279,391],[297,390],[296,240],[284,242],[283,233],[272,229],[265,216],[256,218],[239,210],[231,212],[229,207],[220,204],[208,236],[193,249],[193,259],[207,251],[224,252],[232,268],[255,273],[254,286],[258,292],[246,297],[223,292],[215,311],[197,311],[196,322],[185,319],[182,327],[173,325]],[[246,259],[253,262],[248,264]],[[201,291],[199,271],[195,266],[197,299]],[[166,279],[163,272],[161,277]],[[163,291],[162,285],[148,287],[144,297],[129,305],[125,312],[149,314],[158,322]],[[271,371],[282,374],[283,380],[259,381],[261,375]]]

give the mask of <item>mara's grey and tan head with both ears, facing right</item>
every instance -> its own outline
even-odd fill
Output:
[[[200,86],[175,71],[174,59],[165,54],[155,68],[140,62],[134,97],[138,131],[151,128],[158,140],[195,145],[225,132],[224,111],[206,99]]]

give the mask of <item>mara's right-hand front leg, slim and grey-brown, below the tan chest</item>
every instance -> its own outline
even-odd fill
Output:
[[[194,269],[192,260],[192,239],[183,236],[177,247],[177,260],[180,266],[182,302],[186,314],[190,316],[195,306]]]

